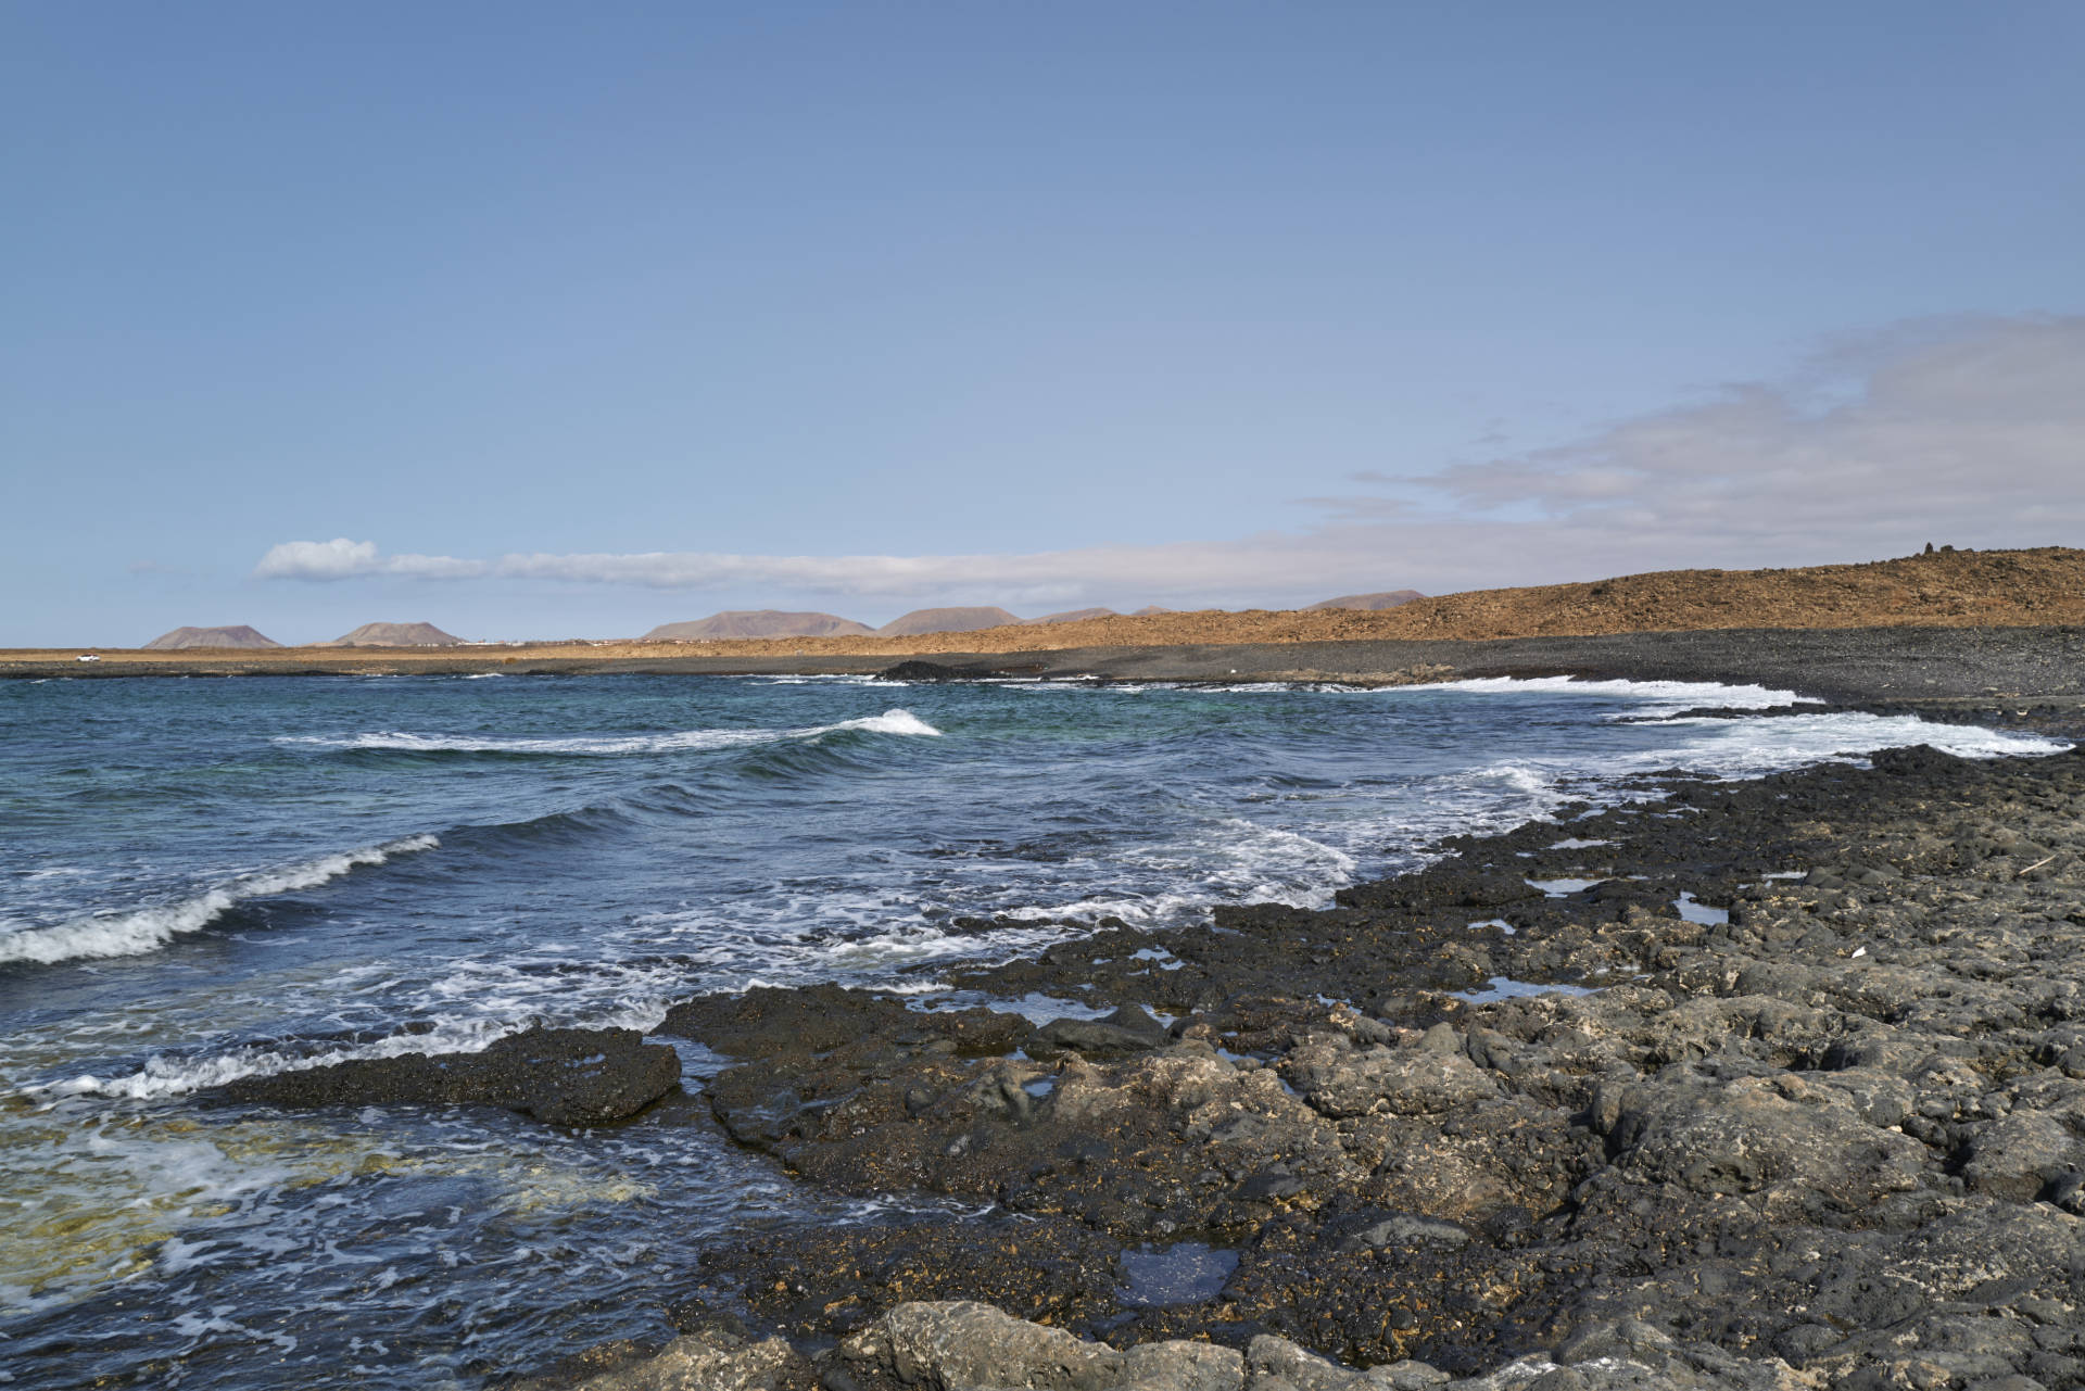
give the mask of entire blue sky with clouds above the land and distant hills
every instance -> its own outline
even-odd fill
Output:
[[[2085,6],[0,6],[0,646],[2085,544]]]

